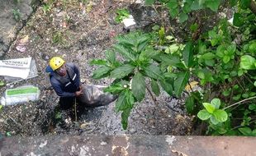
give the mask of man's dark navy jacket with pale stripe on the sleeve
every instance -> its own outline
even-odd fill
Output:
[[[50,73],[50,83],[59,97],[75,97],[79,90],[80,72],[73,63],[66,63],[67,76],[59,76],[55,71]]]

